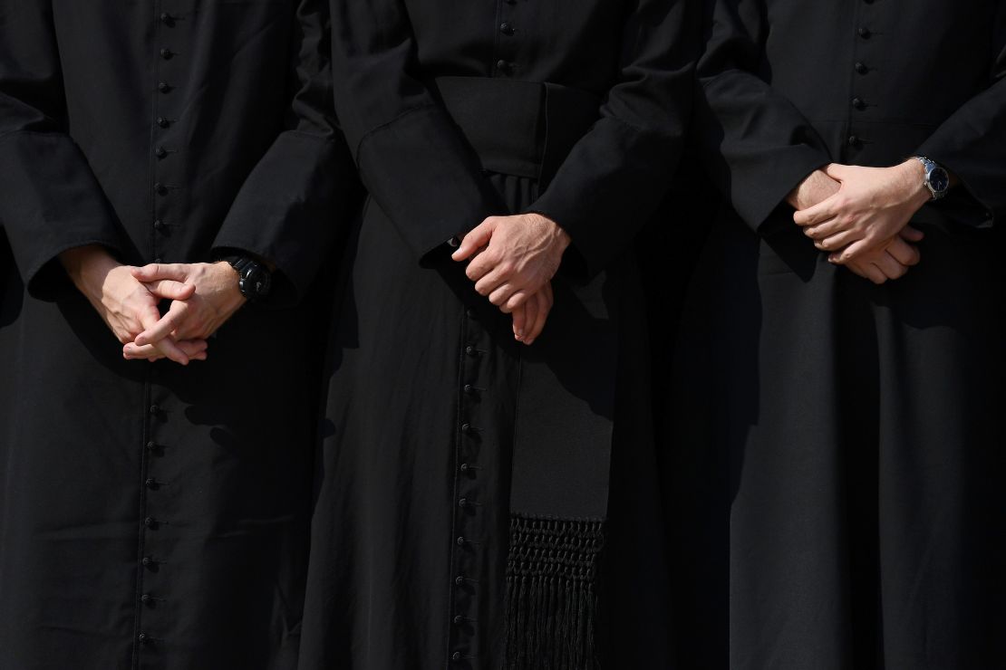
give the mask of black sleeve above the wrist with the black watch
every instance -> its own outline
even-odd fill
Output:
[[[327,0],[304,0],[293,31],[286,130],[248,176],[213,243],[276,264],[274,302],[302,298],[359,203],[335,116]]]

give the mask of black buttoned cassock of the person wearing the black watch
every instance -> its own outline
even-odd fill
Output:
[[[353,179],[327,17],[0,5],[5,670],[296,666],[320,339],[283,305]],[[54,260],[93,243],[132,264],[250,251],[279,267],[276,308],[242,308],[206,363],[124,361]]]

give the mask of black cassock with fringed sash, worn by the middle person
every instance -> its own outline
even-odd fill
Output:
[[[683,3],[332,8],[336,107],[370,200],[333,334],[302,668],[593,667],[594,614],[608,667],[667,667],[630,247],[690,105]],[[573,240],[530,348],[446,244],[522,211]]]

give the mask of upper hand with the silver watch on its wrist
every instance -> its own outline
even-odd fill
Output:
[[[841,182],[838,193],[793,220],[829,260],[845,264],[898,235],[932,194],[921,163],[909,159],[893,168],[832,164],[825,170]],[[840,251],[841,250],[841,251]]]

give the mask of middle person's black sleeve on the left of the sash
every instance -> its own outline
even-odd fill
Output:
[[[506,211],[423,82],[400,0],[331,0],[335,103],[363,184],[418,262]]]

